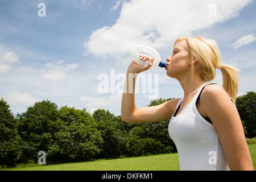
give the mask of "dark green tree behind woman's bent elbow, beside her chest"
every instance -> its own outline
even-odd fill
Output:
[[[148,106],[159,105],[168,100],[162,98],[152,100]],[[128,154],[140,156],[176,152],[176,146],[168,134],[169,122],[170,119],[135,124],[129,132],[129,138],[126,143]]]

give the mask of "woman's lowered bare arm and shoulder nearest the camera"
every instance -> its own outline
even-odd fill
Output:
[[[206,86],[200,104],[218,134],[230,170],[253,170],[240,115],[225,90],[220,85]]]

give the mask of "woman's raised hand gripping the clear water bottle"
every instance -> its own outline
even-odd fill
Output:
[[[153,61],[155,60],[153,57],[148,56],[148,55],[144,55],[144,54],[141,54],[139,59],[141,59],[143,61],[149,60],[148,64],[147,65],[140,65],[140,64],[136,63],[135,61],[133,61],[130,64],[129,68],[128,68],[129,73],[141,73],[143,71],[146,71],[147,69],[150,69],[150,67],[153,64]]]

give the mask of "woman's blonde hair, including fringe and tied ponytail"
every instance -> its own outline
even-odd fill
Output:
[[[223,77],[223,88],[232,97],[233,101],[236,102],[239,78],[238,69],[230,65],[222,64],[221,53],[218,49],[217,43],[212,39],[207,38],[179,38],[176,40],[174,46],[187,40],[187,49],[189,56],[192,60],[198,60],[202,66],[201,78],[205,82],[212,81],[216,76],[216,69],[220,68]],[[193,64],[192,73],[193,73]]]

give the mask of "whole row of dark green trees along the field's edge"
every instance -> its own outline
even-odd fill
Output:
[[[256,135],[255,92],[237,98],[246,137]],[[152,100],[155,106],[169,99]],[[15,117],[3,98],[0,100],[0,165],[15,166],[37,162],[46,152],[47,164],[94,159],[123,158],[177,152],[168,134],[166,121],[126,123],[109,110],[58,107],[51,101],[36,102]]]

